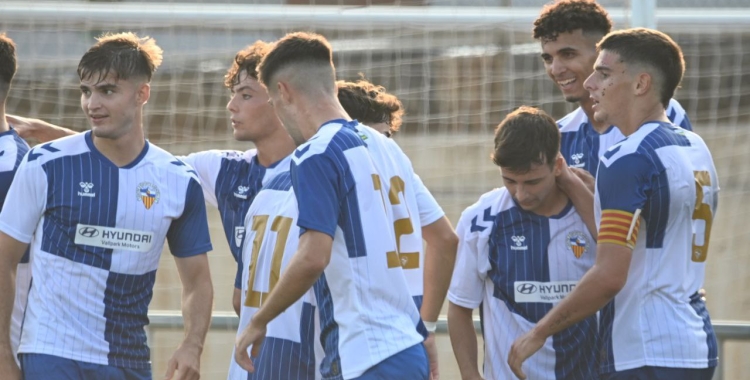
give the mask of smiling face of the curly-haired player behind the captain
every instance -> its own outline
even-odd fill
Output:
[[[542,41],[544,68],[568,102],[588,101],[583,82],[593,70],[599,37],[577,29],[560,33],[554,41]]]

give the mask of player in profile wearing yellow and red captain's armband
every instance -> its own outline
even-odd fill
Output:
[[[602,156],[596,180],[596,263],[511,349],[522,363],[547,337],[600,312],[603,379],[708,380],[716,336],[703,283],[718,178],[703,140],[665,109],[682,80],[680,47],[650,29],[612,32],[584,83],[594,118],[627,139]]]

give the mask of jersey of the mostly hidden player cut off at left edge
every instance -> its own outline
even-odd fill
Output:
[[[10,184],[16,174],[18,165],[21,164],[23,156],[29,151],[26,144],[15,130],[0,133],[0,210],[5,203]],[[10,323],[10,346],[15,354],[18,343],[21,340],[21,325],[23,324],[23,313],[26,309],[26,299],[31,286],[31,268],[29,267],[29,252],[21,259],[16,269],[16,297],[13,302],[13,314]]]

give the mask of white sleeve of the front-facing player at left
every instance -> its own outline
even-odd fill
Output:
[[[0,231],[22,243],[30,243],[47,204],[47,176],[44,169],[29,164],[29,153],[12,177],[12,184],[0,212]],[[3,178],[10,180],[10,178]]]

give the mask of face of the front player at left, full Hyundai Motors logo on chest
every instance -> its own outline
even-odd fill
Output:
[[[81,108],[99,138],[116,140],[132,131],[149,94],[144,80],[117,79],[114,73],[81,79]]]

